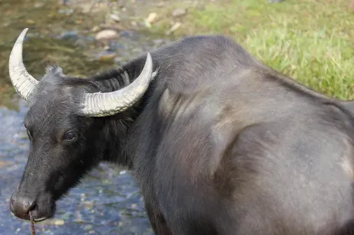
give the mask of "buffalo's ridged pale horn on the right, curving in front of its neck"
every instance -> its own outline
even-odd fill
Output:
[[[148,53],[143,71],[133,83],[114,92],[85,93],[84,107],[80,113],[90,117],[104,117],[125,111],[143,96],[152,77],[153,59]]]

